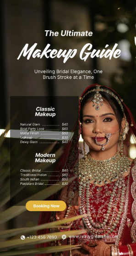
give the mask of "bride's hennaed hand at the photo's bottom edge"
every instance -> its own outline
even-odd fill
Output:
[[[86,254],[76,253],[74,256],[110,256],[110,245],[105,244],[102,241],[92,241],[88,245],[81,244],[81,248],[86,250]]]

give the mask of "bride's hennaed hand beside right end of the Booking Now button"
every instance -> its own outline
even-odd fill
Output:
[[[61,194],[60,194],[60,199],[66,203],[66,209],[64,211],[58,211],[57,216],[61,219],[65,217],[65,213],[67,211],[68,205],[71,204],[70,207],[70,212],[68,217],[73,217],[76,215],[76,212],[79,209],[80,206],[80,197],[78,195],[77,190],[73,190],[74,183],[71,183],[69,186],[65,186],[64,189],[62,189]],[[74,197],[72,198],[72,201],[70,201],[69,198],[69,192],[73,191],[74,192]]]

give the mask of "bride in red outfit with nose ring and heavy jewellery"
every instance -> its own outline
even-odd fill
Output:
[[[78,160],[80,134],[84,157]],[[87,214],[60,228],[85,229],[81,236],[68,239],[69,244],[81,246],[72,250],[74,256],[136,255],[136,161],[128,157],[131,135],[135,139],[136,124],[120,96],[98,84],[87,87],[79,99],[73,138],[58,168],[60,179],[63,168],[69,170],[69,177],[78,178],[55,198],[66,202],[65,211],[50,217],[53,221]],[[39,224],[47,222],[44,214]]]

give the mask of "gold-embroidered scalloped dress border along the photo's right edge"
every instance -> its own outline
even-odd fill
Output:
[[[136,158],[134,160],[135,165],[132,167],[132,177],[133,177],[133,183],[131,185],[131,194],[134,199],[132,204],[132,217],[134,219],[134,223],[131,228],[131,239],[133,242],[136,242]]]

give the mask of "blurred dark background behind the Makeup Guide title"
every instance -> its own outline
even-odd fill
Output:
[[[1,0],[0,1],[0,128],[10,121],[10,96],[80,96],[92,83],[112,87],[131,109],[136,120],[136,3],[134,0]],[[49,37],[44,30],[92,31],[92,37]],[[27,58],[17,60],[25,44],[38,44],[43,49],[77,49],[91,43],[102,50],[118,44],[120,58],[87,58],[79,54],[63,63],[63,59]],[[102,70],[93,80],[45,80],[34,70],[75,69]],[[71,107],[69,106],[70,111]],[[17,106],[16,106],[17,109]],[[0,150],[3,159],[9,139]],[[9,158],[8,158],[9,161]],[[5,163],[5,172],[7,168]],[[2,184],[4,186],[4,184]],[[8,204],[3,209],[9,207]],[[3,228],[30,227],[38,223],[38,212],[28,212],[13,218]]]

